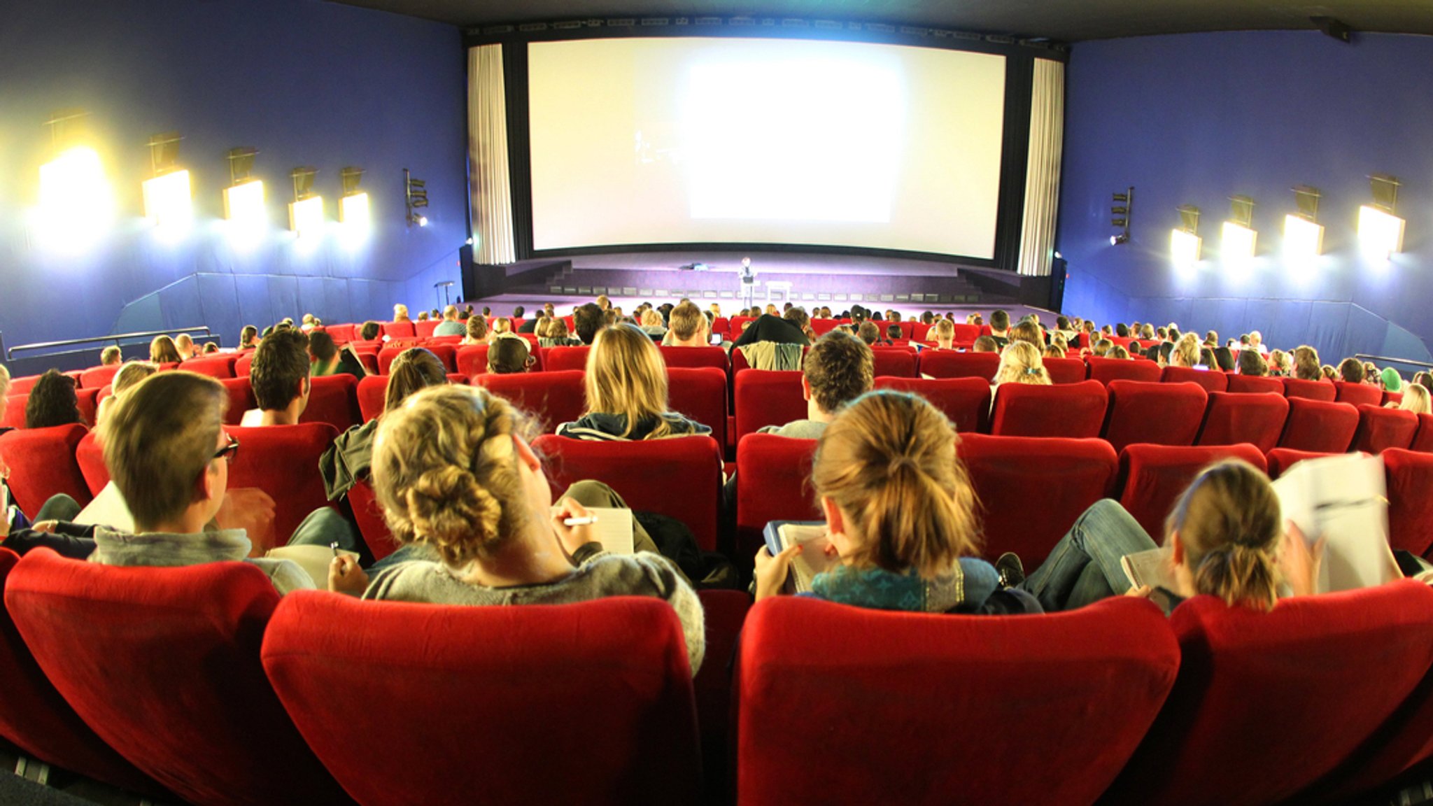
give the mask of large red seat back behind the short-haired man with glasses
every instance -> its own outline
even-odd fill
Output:
[[[264,675],[279,597],[259,568],[116,568],[42,549],[14,566],[4,598],[75,711],[183,800],[348,802]]]

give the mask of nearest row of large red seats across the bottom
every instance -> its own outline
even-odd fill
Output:
[[[694,681],[653,599],[279,599],[242,564],[49,551],[0,552],[0,734],[202,806],[692,803],[704,762],[744,805],[1327,803],[1433,754],[1433,591],[1412,581],[1267,614],[1198,597],[1168,620],[1125,598],[748,614],[744,594],[708,592]],[[474,753],[479,736],[504,740]]]

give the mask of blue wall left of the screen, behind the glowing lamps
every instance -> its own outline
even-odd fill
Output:
[[[0,76],[6,346],[113,333],[138,300],[126,328],[203,323],[232,346],[242,324],[305,311],[353,321],[396,301],[431,307],[437,275],[459,280],[466,53],[451,26],[318,0],[44,0],[6,13]],[[76,255],[50,250],[32,224],[39,166],[52,156],[43,122],[69,108],[89,112],[118,207],[112,231]],[[185,136],[179,163],[195,196],[196,225],[178,244],[140,218],[146,143],[166,131]],[[234,146],[259,149],[268,195],[271,232],[249,251],[219,221]],[[302,245],[287,232],[299,165],[320,169],[330,221],[340,169],[365,169],[365,244]],[[427,181],[430,227],[404,222],[404,168]]]

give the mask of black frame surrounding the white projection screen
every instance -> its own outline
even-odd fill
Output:
[[[629,252],[672,252],[672,251],[765,251],[831,255],[867,255],[884,258],[924,260],[952,264],[954,268],[995,268],[1017,271],[1022,224],[1025,218],[1025,179],[1029,165],[1030,141],[1030,92],[1033,86],[1035,59],[1068,62],[1065,49],[1048,43],[1019,43],[1009,37],[963,34],[954,32],[930,32],[913,29],[904,33],[897,26],[850,23],[845,27],[768,27],[790,20],[752,20],[754,24],[648,24],[648,20],[592,20],[585,24],[569,23],[565,27],[547,23],[520,26],[489,26],[483,32],[469,32],[464,36],[464,50],[479,44],[504,44],[503,77],[507,106],[507,159],[512,188],[513,237],[517,260],[570,258],[596,254]],[[613,22],[631,23],[613,26]],[[833,23],[834,24],[834,23]],[[888,29],[888,30],[887,30]],[[946,34],[946,36],[940,36]],[[778,244],[778,242],[655,242],[655,244],[602,244],[590,247],[569,247],[557,250],[533,248],[533,198],[532,198],[532,149],[529,128],[527,87],[527,44],[533,42],[565,42],[585,39],[639,39],[639,37],[725,37],[725,39],[798,39],[823,42],[854,42],[864,44],[900,44],[914,47],[937,47],[972,53],[1005,56],[1005,120],[1000,141],[1000,188],[996,207],[995,252],[992,258],[923,252],[910,250],[873,247],[834,247],[825,244]],[[470,195],[471,199],[471,195]],[[471,204],[471,201],[469,202]]]

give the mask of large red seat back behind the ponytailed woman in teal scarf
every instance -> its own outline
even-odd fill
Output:
[[[738,654],[741,803],[1093,803],[1178,667],[1148,601],[997,617],[765,599]],[[813,756],[851,763],[815,773]]]

